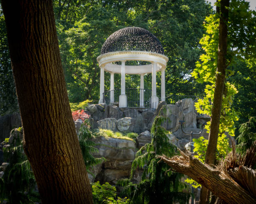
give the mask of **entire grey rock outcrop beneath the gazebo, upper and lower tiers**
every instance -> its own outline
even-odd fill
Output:
[[[116,184],[118,179],[128,178],[136,152],[144,144],[151,142],[150,129],[154,117],[158,113],[166,117],[163,127],[171,132],[167,135],[169,142],[184,150],[185,145],[190,142],[190,135],[182,133],[179,120],[185,121],[184,131],[189,133],[191,131],[194,133],[200,132],[201,129],[197,127],[210,120],[210,117],[198,116],[194,105],[192,99],[183,99],[176,104],[161,102],[156,112],[139,108],[119,109],[107,104],[90,105],[87,111],[91,114],[90,120],[93,122],[94,128],[139,133],[136,142],[117,138],[95,138],[94,142],[97,143],[99,152],[94,156],[105,157],[106,161],[91,169],[93,175],[89,174],[90,181],[99,180],[100,182]],[[208,133],[205,129],[200,136],[208,139]],[[195,138],[200,136],[195,136]],[[139,182],[140,178],[141,171],[137,171],[134,182]]]

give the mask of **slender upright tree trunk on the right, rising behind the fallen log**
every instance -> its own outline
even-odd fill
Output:
[[[225,70],[227,67],[226,53],[228,46],[228,9],[229,0],[220,1],[220,25],[219,25],[219,45],[215,89],[213,96],[212,116],[210,124],[209,141],[205,155],[205,164],[214,164],[215,152],[217,149],[218,133],[220,126],[220,114],[223,90],[225,86]],[[207,189],[202,187],[200,194],[200,204],[207,203]]]

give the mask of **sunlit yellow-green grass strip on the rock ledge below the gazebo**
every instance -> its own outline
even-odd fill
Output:
[[[124,135],[121,132],[113,132],[110,129],[99,129],[99,131],[96,133],[96,136],[126,139],[126,140],[131,140],[131,141],[135,142],[134,139],[138,136],[138,134],[136,134],[134,132],[128,132]]]

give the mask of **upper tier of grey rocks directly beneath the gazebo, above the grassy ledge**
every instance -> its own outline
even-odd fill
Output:
[[[87,112],[91,115],[92,128],[111,129],[120,132],[141,132],[150,131],[154,118],[160,114],[166,117],[163,127],[171,131],[177,139],[179,147],[188,142],[189,136],[182,133],[179,120],[184,120],[184,130],[186,132],[200,132],[200,124],[209,121],[210,117],[198,116],[195,110],[195,102],[192,99],[183,99],[176,104],[159,103],[156,111],[141,108],[118,108],[103,104],[92,104],[87,107]],[[206,139],[208,134],[204,130],[202,136]],[[180,144],[182,143],[182,144]]]

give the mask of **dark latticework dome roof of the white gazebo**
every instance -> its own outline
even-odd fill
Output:
[[[101,55],[117,51],[147,51],[164,55],[159,40],[141,27],[125,27],[111,34],[101,48]]]

